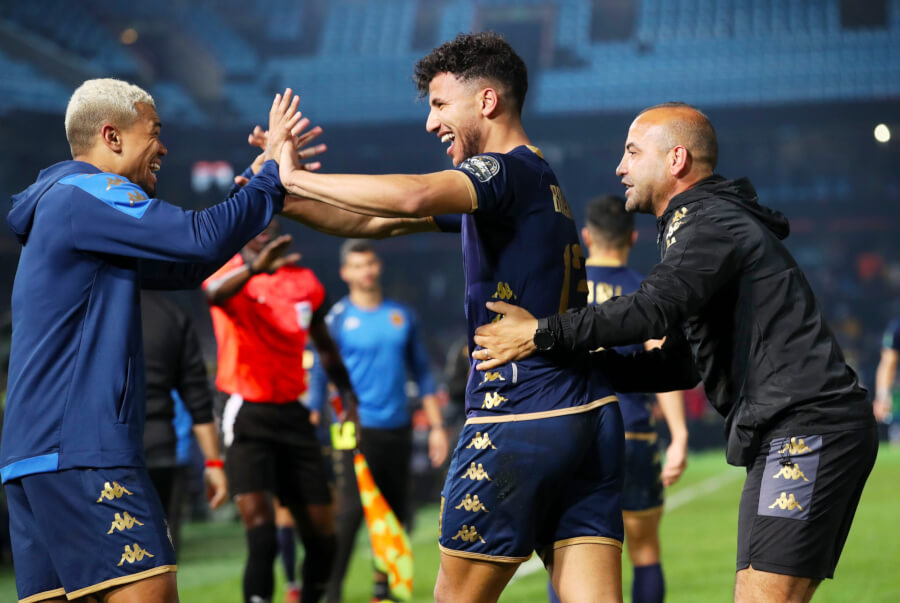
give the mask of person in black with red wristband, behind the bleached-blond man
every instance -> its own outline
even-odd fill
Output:
[[[159,291],[141,291],[141,324],[147,383],[144,459],[147,472],[166,510],[172,546],[178,552],[181,506],[188,488],[188,467],[178,458],[173,421],[175,396],[190,413],[192,431],[205,460],[203,478],[210,507],[225,502],[228,484],[219,456],[219,432],[213,420],[213,398],[191,316]]]

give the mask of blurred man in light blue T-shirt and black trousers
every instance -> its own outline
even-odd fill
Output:
[[[331,336],[350,372],[359,396],[360,451],[375,485],[401,524],[410,519],[410,461],[413,432],[406,381],[418,385],[430,426],[428,456],[433,467],[447,458],[447,432],[436,395],[419,320],[407,306],[385,299],[381,289],[381,259],[367,241],[348,240],[341,246],[341,278],[349,294],[326,317]],[[311,406],[323,410],[322,402]],[[327,411],[327,409],[325,409]],[[328,601],[338,603],[356,533],[363,519],[353,450],[336,450],[338,490],[338,553],[328,586]],[[386,574],[375,571],[373,600],[389,600]]]

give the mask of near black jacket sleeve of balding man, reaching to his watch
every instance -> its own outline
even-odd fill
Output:
[[[603,304],[542,319],[564,350],[589,351],[661,339],[696,314],[737,271],[731,234],[697,210],[673,233],[662,262],[641,288]]]

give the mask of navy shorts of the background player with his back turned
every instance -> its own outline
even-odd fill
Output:
[[[622,512],[640,514],[663,506],[662,464],[655,433],[625,432]]]

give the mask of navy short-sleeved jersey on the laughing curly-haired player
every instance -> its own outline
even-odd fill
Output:
[[[500,318],[485,307],[506,301],[534,316],[587,303],[584,256],[572,212],[553,170],[535,147],[486,153],[457,168],[468,177],[474,211],[438,217],[462,232],[469,349],[475,329]],[[586,358],[535,354],[496,370],[474,369],[466,388],[469,417],[554,411],[610,397]]]

